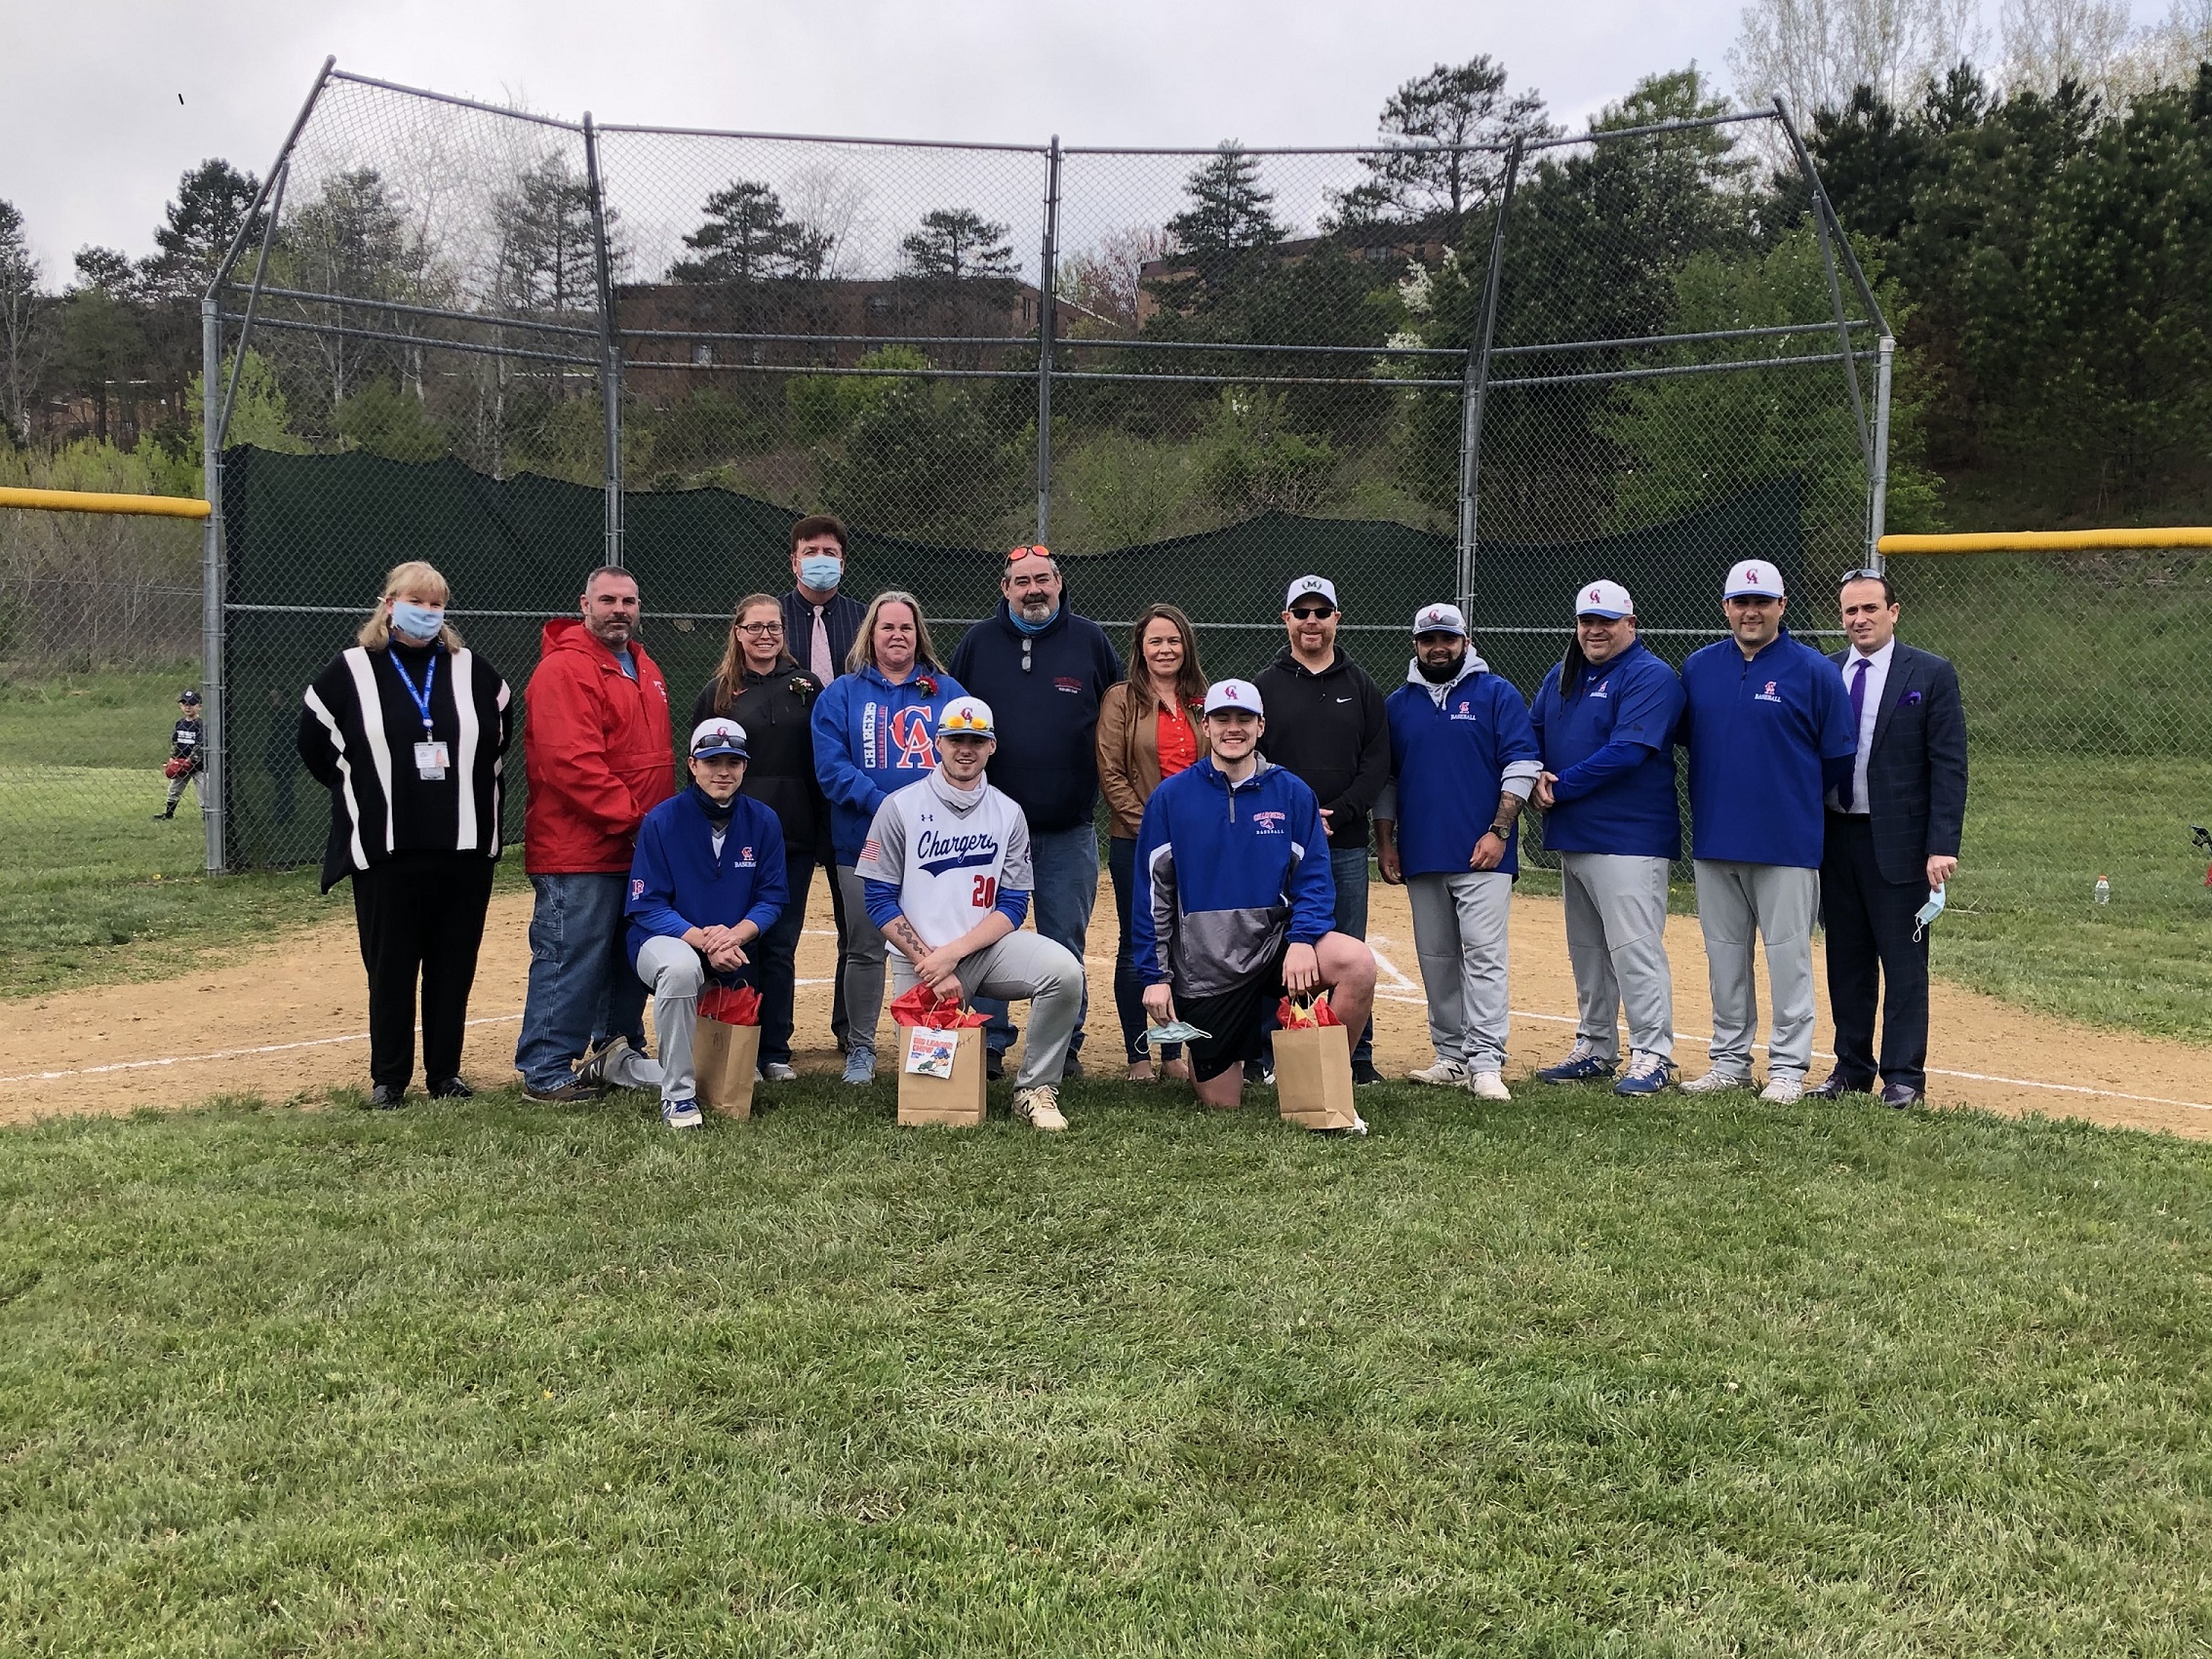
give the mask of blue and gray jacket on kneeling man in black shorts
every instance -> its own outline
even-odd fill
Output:
[[[1336,927],[1336,878],[1321,801],[1259,761],[1230,783],[1212,757],[1152,790],[1137,830],[1130,951],[1146,984],[1219,995],[1290,945]]]

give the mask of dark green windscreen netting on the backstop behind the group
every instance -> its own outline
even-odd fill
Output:
[[[1801,493],[1785,478],[1619,535],[1482,542],[1469,617],[1475,648],[1524,695],[1535,692],[1566,644],[1575,588],[1610,577],[1635,593],[1646,641],[1681,661],[1717,637],[1721,575],[1734,560],[1772,560],[1792,591],[1803,588]],[[679,728],[692,692],[721,659],[734,602],[790,588],[794,520],[792,511],[723,489],[624,500],[624,564],[637,573],[644,644],[668,675]],[[299,695],[352,644],[385,571],[403,560],[436,564],[453,584],[456,626],[526,699],[540,628],[573,615],[584,573],[606,555],[597,489],[361,451],[230,451],[223,526],[234,869],[321,854],[327,810],[292,754]],[[1281,648],[1283,588],[1318,571],[1336,582],[1340,641],[1389,688],[1405,675],[1413,611],[1455,588],[1451,538],[1380,520],[1267,513],[1144,546],[1055,551],[1071,604],[1104,622],[1124,655],[1130,617],[1168,599],[1197,624],[1214,677],[1252,672]],[[938,650],[949,655],[964,624],[998,604],[1000,562],[1000,549],[931,546],[856,529],[847,591],[863,599],[883,588],[914,591]],[[511,779],[507,821],[518,838],[520,754]]]

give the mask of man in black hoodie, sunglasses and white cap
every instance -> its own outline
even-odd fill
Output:
[[[1367,938],[1367,814],[1389,783],[1389,717],[1383,690],[1336,648],[1336,584],[1301,575],[1283,599],[1290,644],[1259,670],[1267,703],[1261,754],[1321,796],[1336,876],[1336,931]],[[1378,1084],[1376,1029],[1369,1020],[1352,1046],[1352,1082]]]

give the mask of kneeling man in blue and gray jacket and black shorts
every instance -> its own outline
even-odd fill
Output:
[[[1376,958],[1334,931],[1336,885],[1321,801],[1259,754],[1265,708],[1245,679],[1206,690],[1212,754],[1152,790],[1137,830],[1130,951],[1152,1024],[1181,1015],[1210,1033],[1188,1044],[1208,1106],[1237,1106],[1267,1011],[1327,989],[1360,1031]]]

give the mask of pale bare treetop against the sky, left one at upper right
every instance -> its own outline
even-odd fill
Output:
[[[1856,86],[1893,108],[1913,104],[1931,75],[1980,46],[1978,0],[1754,0],[1728,69],[1745,104],[1781,97],[1809,122]]]

